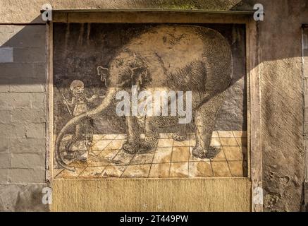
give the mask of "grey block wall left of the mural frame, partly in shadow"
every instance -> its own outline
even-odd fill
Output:
[[[45,210],[45,25],[0,25],[0,210]]]

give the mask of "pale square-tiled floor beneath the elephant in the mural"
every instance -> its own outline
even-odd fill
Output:
[[[213,159],[192,156],[195,135],[187,141],[173,141],[172,133],[160,133],[156,148],[148,153],[130,155],[121,150],[125,135],[94,135],[87,162],[72,162],[75,172],[54,169],[55,179],[94,178],[175,178],[175,177],[246,177],[246,131],[215,131],[211,145],[220,147]],[[65,142],[65,141],[64,141]]]

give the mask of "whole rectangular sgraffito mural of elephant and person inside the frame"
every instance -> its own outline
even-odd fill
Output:
[[[54,23],[53,177],[246,177],[244,25]]]

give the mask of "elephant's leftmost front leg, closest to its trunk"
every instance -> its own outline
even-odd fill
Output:
[[[127,141],[123,144],[123,150],[130,154],[138,151],[140,143],[140,128],[137,124],[136,117],[128,116],[127,121]]]

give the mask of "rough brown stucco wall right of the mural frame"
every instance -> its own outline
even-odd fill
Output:
[[[261,1],[262,159],[265,210],[300,210],[303,201],[302,23],[307,1]]]

